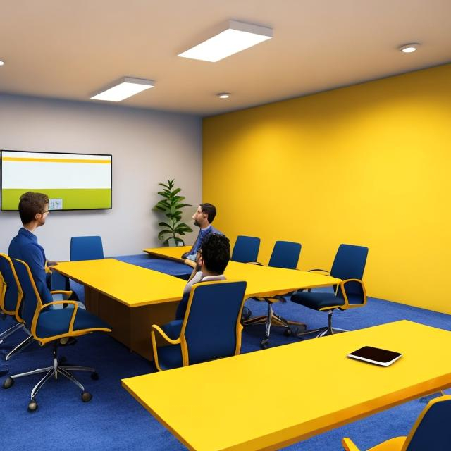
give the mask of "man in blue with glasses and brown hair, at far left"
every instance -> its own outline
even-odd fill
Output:
[[[36,288],[42,302],[52,302],[53,299],[47,285],[46,257],[44,248],[37,242],[35,230],[44,226],[49,216],[49,197],[40,192],[25,192],[20,196],[19,214],[23,227],[13,237],[9,245],[8,255],[11,259],[25,261],[30,266]],[[49,261],[47,264],[56,264]]]

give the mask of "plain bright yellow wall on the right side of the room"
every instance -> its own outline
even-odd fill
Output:
[[[451,314],[451,65],[206,118],[203,163],[232,244],[367,245],[369,295]]]

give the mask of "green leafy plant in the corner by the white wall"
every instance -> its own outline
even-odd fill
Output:
[[[163,197],[155,206],[154,210],[162,211],[168,218],[167,222],[162,221],[159,226],[163,227],[163,230],[158,234],[159,240],[164,240],[163,245],[168,245],[169,240],[174,240],[175,245],[181,243],[185,245],[182,238],[177,235],[184,236],[185,233],[192,232],[192,228],[182,221],[182,209],[185,206],[191,206],[190,204],[183,204],[185,200],[184,196],[178,195],[181,188],[174,186],[174,179],[168,180],[167,185],[165,183],[159,183],[164,189],[159,191],[159,195]],[[166,237],[166,235],[169,235]]]

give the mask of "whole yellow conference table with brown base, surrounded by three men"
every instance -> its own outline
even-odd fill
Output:
[[[87,309],[109,323],[116,340],[152,359],[152,324],[161,325],[175,318],[185,280],[114,259],[63,261],[54,269],[85,285]],[[246,280],[246,297],[281,295],[340,281],[318,273],[236,261],[229,262],[226,277]]]

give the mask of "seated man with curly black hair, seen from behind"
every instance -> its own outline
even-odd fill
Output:
[[[192,285],[211,280],[226,280],[226,276],[223,273],[226,271],[229,259],[230,241],[228,237],[210,233],[205,238],[199,251],[197,268],[194,268],[194,271],[192,271],[191,277],[183,290],[183,298],[178,304],[175,320],[161,326],[169,338],[175,340],[175,338],[180,336]]]

